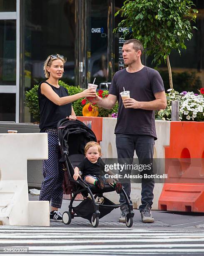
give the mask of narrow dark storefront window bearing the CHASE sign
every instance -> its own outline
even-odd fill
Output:
[[[90,0],[87,36],[87,81],[107,81],[107,0]]]

